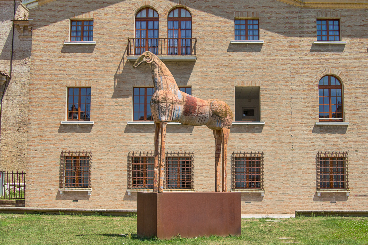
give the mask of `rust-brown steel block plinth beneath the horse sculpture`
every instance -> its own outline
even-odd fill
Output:
[[[241,193],[138,192],[139,237],[241,235]]]

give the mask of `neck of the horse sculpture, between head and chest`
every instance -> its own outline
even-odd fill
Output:
[[[155,90],[179,89],[173,75],[162,61],[155,57],[150,65]]]

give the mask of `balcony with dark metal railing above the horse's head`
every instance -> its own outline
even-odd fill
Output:
[[[197,38],[128,38],[128,61],[135,62],[145,51],[162,61],[196,61]]]

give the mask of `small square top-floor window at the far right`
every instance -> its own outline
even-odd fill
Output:
[[[340,41],[340,21],[317,19],[317,41]]]

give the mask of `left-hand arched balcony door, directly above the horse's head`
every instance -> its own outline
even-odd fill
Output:
[[[142,8],[135,15],[135,55],[145,51],[158,54],[159,15],[152,8]]]

